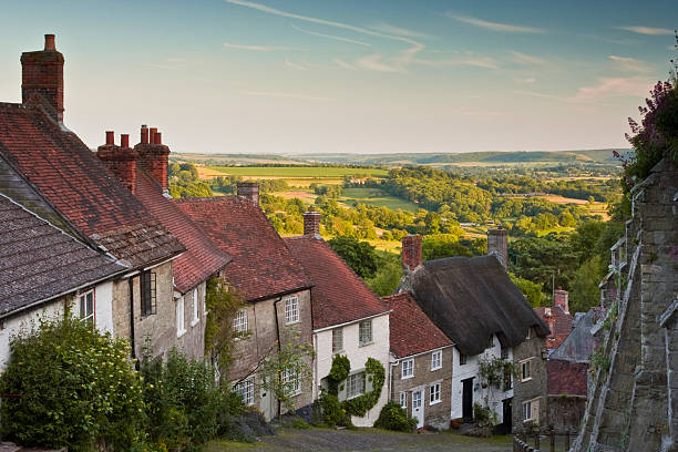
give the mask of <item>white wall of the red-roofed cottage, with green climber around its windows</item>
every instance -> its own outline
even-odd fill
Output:
[[[374,358],[381,362],[386,371],[386,380],[381,389],[381,396],[377,404],[362,418],[352,417],[357,427],[371,427],[381,408],[388,402],[388,372],[389,372],[389,316],[383,315],[372,318],[372,343],[363,347],[358,346],[359,322],[347,325],[343,328],[343,352],[351,362],[351,372],[363,370],[368,358]],[[314,384],[314,400],[320,396],[320,381],[327,377],[332,368],[332,330],[314,333],[314,346],[316,348],[316,376]]]

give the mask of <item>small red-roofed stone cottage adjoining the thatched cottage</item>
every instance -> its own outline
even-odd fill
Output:
[[[452,341],[423,314],[410,292],[381,300],[391,309],[389,399],[415,418],[418,428],[449,429]]]

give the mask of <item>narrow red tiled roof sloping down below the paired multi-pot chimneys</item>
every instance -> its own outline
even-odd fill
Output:
[[[188,216],[162,193],[162,187],[142,168],[136,168],[134,195],[179,239],[186,251],[174,260],[174,285],[187,292],[223,269],[230,256],[224,253]]]

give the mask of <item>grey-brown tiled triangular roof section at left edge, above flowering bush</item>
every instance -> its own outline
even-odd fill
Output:
[[[0,316],[126,270],[0,195]]]

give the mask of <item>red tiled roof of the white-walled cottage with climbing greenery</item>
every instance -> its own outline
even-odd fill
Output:
[[[347,323],[388,312],[388,308],[321,238],[314,236],[285,239],[315,287],[312,294],[314,329]]]

